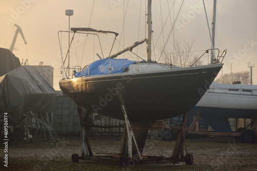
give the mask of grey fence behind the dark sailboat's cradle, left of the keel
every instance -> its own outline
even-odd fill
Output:
[[[94,115],[89,118],[96,125],[114,126],[124,121],[101,115]],[[77,111],[77,104],[67,96],[56,97],[56,108],[53,112],[53,128],[58,134],[80,135],[80,120]],[[122,135],[123,128],[98,128],[91,127],[89,135]]]

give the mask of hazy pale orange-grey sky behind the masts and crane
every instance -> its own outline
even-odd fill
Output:
[[[211,48],[203,1],[185,1],[180,9],[181,2],[152,0],[152,30],[154,31],[152,46],[155,46],[152,58],[155,60],[158,60],[161,53],[159,47],[165,44],[168,51],[173,53],[174,39],[181,43],[193,42],[192,50],[197,56]],[[172,8],[173,3],[174,8]],[[213,1],[205,0],[205,5],[209,25],[211,25]],[[231,71],[250,71],[248,68],[250,62],[251,65],[256,65],[252,68],[252,73],[253,84],[257,84],[256,7],[255,0],[217,1],[215,48],[221,52],[227,49],[227,55],[223,61],[224,67],[219,76]],[[62,78],[58,31],[68,30],[68,16],[65,15],[67,9],[74,10],[74,15],[70,16],[71,28],[90,27],[119,33],[111,54],[145,38],[145,1],[143,0],[0,0],[0,47],[10,48],[16,30],[13,26],[19,25],[27,45],[24,44],[22,36],[18,35],[13,53],[21,62],[22,59],[25,61],[28,58],[29,65],[39,65],[43,61],[43,65],[52,66],[54,68],[53,87],[56,90],[59,90],[59,80]],[[176,20],[175,25],[173,25],[174,20]],[[162,28],[163,32],[161,32]],[[59,35],[64,53],[68,46],[68,35],[65,33]],[[99,49],[96,38],[76,37],[77,43],[70,51],[70,57],[73,58],[70,58],[70,66],[77,64],[85,66],[98,59],[96,53],[107,57],[114,40],[113,35],[107,36],[103,35],[101,41],[103,53]],[[134,48],[133,52],[146,59],[145,44]],[[131,53],[125,53],[121,57],[137,60]],[[208,62],[208,57],[203,59],[204,62]]]

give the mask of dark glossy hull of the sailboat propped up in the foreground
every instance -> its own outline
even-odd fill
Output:
[[[159,72],[121,73],[60,80],[61,90],[83,108],[122,119],[115,89],[124,87],[131,121],[160,120],[185,114],[204,95],[222,64]]]

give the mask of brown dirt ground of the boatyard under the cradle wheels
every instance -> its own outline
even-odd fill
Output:
[[[93,153],[119,153],[120,137],[91,136]],[[8,168],[4,166],[3,140],[0,145],[0,170],[257,170],[257,142],[247,144],[233,137],[186,138],[188,153],[194,162],[147,163],[122,168],[118,163],[103,163],[80,160],[71,161],[73,153],[81,153],[80,137],[60,136],[59,142],[24,140],[8,141]],[[148,138],[143,155],[172,155],[175,141]]]

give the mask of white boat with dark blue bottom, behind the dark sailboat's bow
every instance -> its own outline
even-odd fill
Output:
[[[215,132],[231,132],[228,118],[256,118],[257,85],[213,82],[189,115],[197,111]]]

